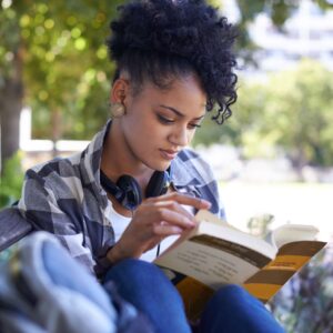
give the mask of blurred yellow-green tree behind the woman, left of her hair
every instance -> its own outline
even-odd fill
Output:
[[[95,130],[98,120],[105,118],[107,88],[113,67],[107,59],[104,41],[109,21],[123,2],[2,0],[2,161],[18,149],[23,104],[31,105],[38,115],[33,117],[34,134],[50,137],[51,133],[54,141],[68,132],[82,137],[87,130]],[[88,109],[90,117],[85,118]]]

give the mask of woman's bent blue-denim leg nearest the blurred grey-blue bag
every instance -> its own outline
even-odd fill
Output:
[[[122,297],[149,317],[157,332],[190,333],[182,299],[157,265],[123,260],[108,271],[104,284],[111,282]]]

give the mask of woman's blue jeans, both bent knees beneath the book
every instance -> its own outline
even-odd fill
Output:
[[[162,271],[128,259],[109,270],[119,293],[148,315],[159,333],[189,333],[182,300]],[[281,333],[284,330],[264,305],[238,285],[220,289],[208,303],[198,332]]]

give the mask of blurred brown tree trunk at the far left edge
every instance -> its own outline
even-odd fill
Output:
[[[0,88],[0,173],[4,161],[19,149],[20,114],[23,104],[22,49],[14,53],[12,77]]]

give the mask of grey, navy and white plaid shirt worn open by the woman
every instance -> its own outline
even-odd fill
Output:
[[[82,153],[28,170],[18,203],[34,230],[56,234],[70,254],[98,276],[105,272],[105,254],[114,244],[111,202],[100,183],[103,142],[110,125],[111,121]],[[195,152],[181,151],[170,170],[176,191],[210,201],[211,211],[224,218],[212,171]]]

